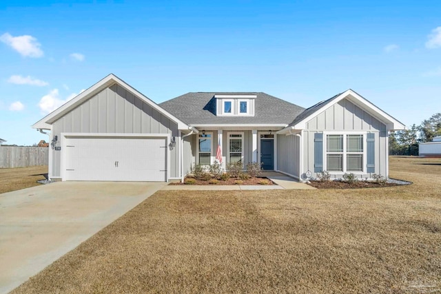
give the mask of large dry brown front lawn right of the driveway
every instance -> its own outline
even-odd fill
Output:
[[[391,176],[414,184],[159,191],[14,293],[440,292],[441,160]]]

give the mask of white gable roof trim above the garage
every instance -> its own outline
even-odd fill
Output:
[[[68,101],[58,109],[55,109],[53,112],[39,120],[37,123],[32,125],[34,129],[50,129],[50,125],[54,123],[55,121],[59,120],[59,118],[65,116],[69,112],[71,112],[76,107],[79,107],[82,103],[85,101],[88,101],[88,99],[94,97],[99,92],[103,91],[107,87],[111,87],[115,83],[119,84],[121,87],[124,87],[125,90],[128,92],[131,92],[134,96],[139,97],[142,101],[156,109],[158,112],[169,118],[170,120],[173,120],[177,125],[178,129],[189,129],[188,125],[183,123],[181,120],[167,112],[165,109],[154,103],[150,98],[147,98],[141,92],[135,90],[132,86],[125,83],[121,78],[118,78],[114,74],[109,74],[105,78],[103,78],[98,83],[92,85],[92,87],[88,88],[88,90],[85,90],[81,92],[78,96],[74,97],[72,100]]]

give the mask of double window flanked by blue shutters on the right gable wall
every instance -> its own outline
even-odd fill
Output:
[[[328,134],[326,136],[326,170],[363,171],[365,137],[362,134]]]

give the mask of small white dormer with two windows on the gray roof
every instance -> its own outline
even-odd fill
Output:
[[[217,116],[254,116],[256,94],[215,94]]]

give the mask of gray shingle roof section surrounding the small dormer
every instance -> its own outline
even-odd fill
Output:
[[[256,94],[254,116],[216,116],[215,94]],[[188,125],[286,124],[305,108],[263,92],[190,92],[159,104]]]

